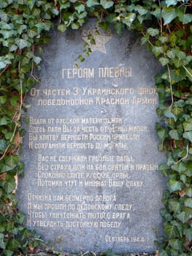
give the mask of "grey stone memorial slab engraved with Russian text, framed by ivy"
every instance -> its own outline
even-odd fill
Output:
[[[65,251],[153,252],[164,187],[153,80],[160,67],[132,32],[96,34],[94,21],[51,39],[26,99],[18,187],[26,225]],[[93,53],[75,67],[85,42]]]

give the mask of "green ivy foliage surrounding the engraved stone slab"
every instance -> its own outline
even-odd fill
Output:
[[[18,151],[23,129],[20,114],[26,92],[37,82],[41,45],[58,19],[58,30],[79,29],[89,17],[102,29],[113,23],[118,34],[134,29],[142,44],[164,67],[156,75],[159,95],[156,124],[159,150],[167,163],[164,192],[165,237],[159,256],[191,254],[192,216],[192,15],[190,0],[1,0],[0,1],[0,253],[35,252],[39,238],[24,225],[15,200],[17,176],[23,174]]]

